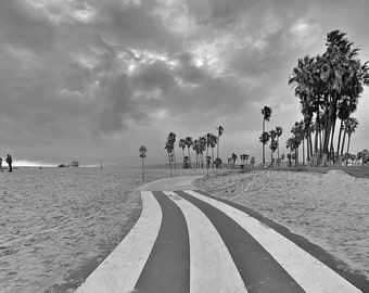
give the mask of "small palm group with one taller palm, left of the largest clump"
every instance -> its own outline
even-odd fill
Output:
[[[275,152],[278,150],[278,162],[280,162],[279,157],[279,138],[283,133],[283,128],[280,126],[277,126],[276,129],[271,129],[269,131],[265,131],[265,123],[270,122],[272,109],[269,106],[264,106],[262,109],[262,115],[263,115],[263,132],[262,136],[259,137],[259,141],[263,144],[263,165],[265,164],[265,145],[269,142],[270,140],[270,156],[271,156],[271,164],[273,164],[273,155]]]

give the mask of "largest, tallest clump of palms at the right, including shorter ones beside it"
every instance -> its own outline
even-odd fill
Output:
[[[369,85],[369,67],[368,62],[360,62],[359,49],[345,36],[340,30],[328,33],[326,52],[300,59],[289,77],[304,116],[287,141],[296,161],[301,144],[305,151],[304,141],[307,160],[316,165],[340,162],[346,139],[346,153],[349,151],[351,136],[358,126],[353,113],[364,86]]]

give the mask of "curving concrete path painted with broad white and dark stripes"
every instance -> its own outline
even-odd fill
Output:
[[[139,220],[76,292],[369,292],[320,247],[195,190],[196,178],[142,186]]]

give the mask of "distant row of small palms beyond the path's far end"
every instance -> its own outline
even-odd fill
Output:
[[[216,166],[217,168],[221,167],[221,160],[219,157],[219,141],[222,132],[225,131],[222,126],[216,127],[217,135],[206,133],[204,136],[199,137],[198,139],[193,139],[192,137],[186,137],[179,140],[178,146],[182,150],[183,155],[183,168],[192,168],[191,161],[191,152],[192,149],[195,153],[195,167],[204,167],[204,163],[207,167],[209,165]],[[169,132],[167,141],[165,143],[164,149],[168,153],[169,158],[169,167],[171,167],[170,162],[176,162],[175,155],[175,142],[176,135],[174,132]],[[217,157],[215,158],[215,146],[217,146]],[[187,154],[186,154],[187,149]]]

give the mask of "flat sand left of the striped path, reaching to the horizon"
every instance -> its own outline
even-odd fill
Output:
[[[148,169],[145,182],[169,176]],[[140,169],[1,173],[0,292],[74,292],[140,216]]]

